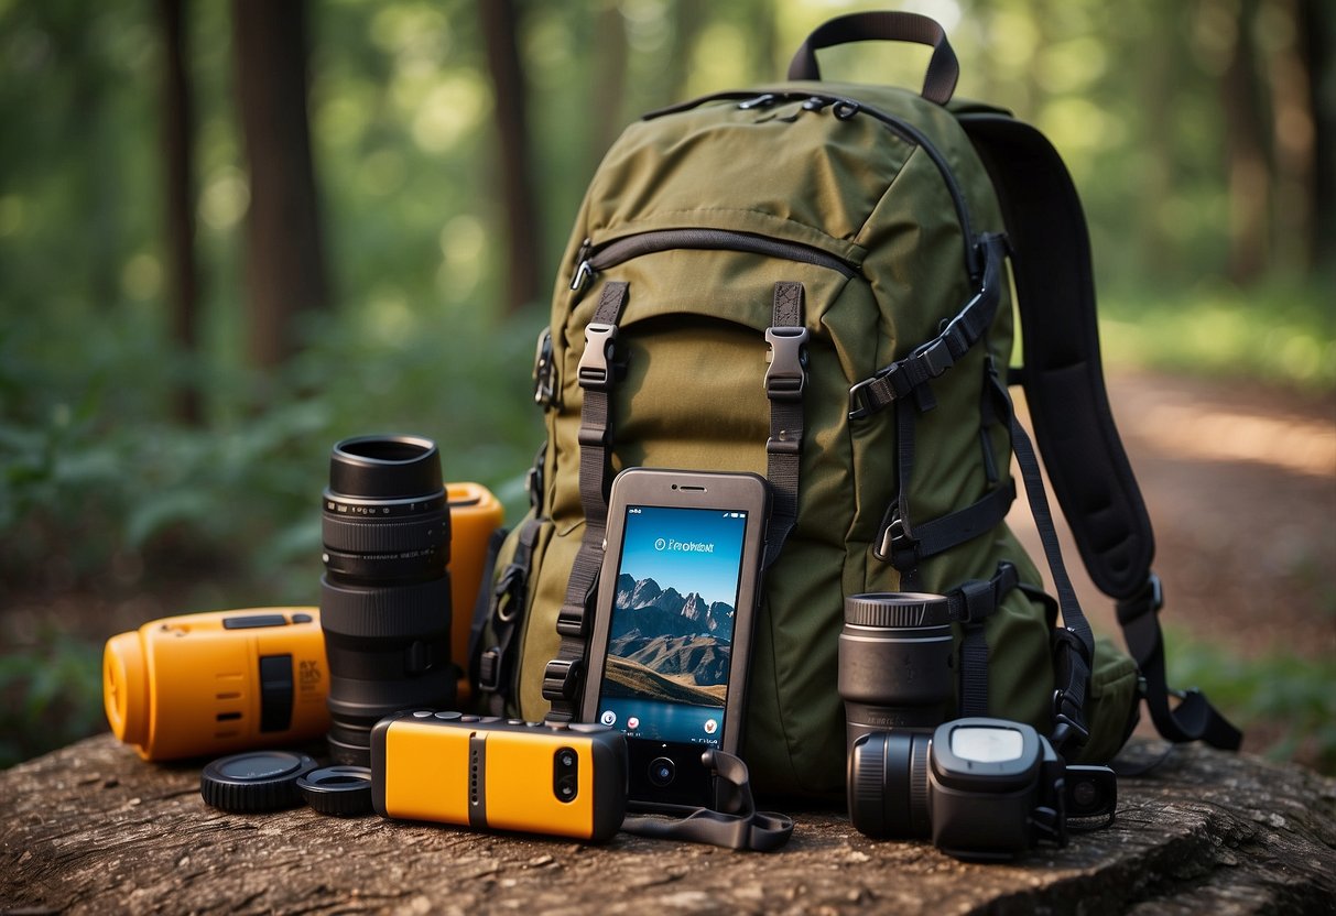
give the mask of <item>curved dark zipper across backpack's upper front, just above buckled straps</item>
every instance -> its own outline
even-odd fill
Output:
[[[767,258],[780,258],[783,260],[796,260],[804,264],[826,267],[847,278],[858,276],[858,267],[843,258],[838,258],[810,244],[783,242],[766,235],[735,232],[732,230],[684,228],[655,230],[652,232],[628,235],[601,244],[597,248],[585,239],[585,243],[580,246],[580,252],[576,255],[577,264],[574,275],[570,278],[570,288],[580,292],[596,274],[609,267],[616,267],[632,258],[679,248],[745,251]]]

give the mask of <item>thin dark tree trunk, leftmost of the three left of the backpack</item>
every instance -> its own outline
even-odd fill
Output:
[[[186,0],[159,0],[163,28],[162,143],[167,235],[167,308],[171,339],[182,363],[199,350],[199,274],[195,260],[194,115],[186,71]],[[190,425],[200,421],[199,379],[178,382],[174,410]]]

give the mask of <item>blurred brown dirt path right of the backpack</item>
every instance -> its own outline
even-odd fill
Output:
[[[1142,373],[1110,377],[1109,398],[1156,529],[1165,624],[1245,656],[1336,653],[1336,398]],[[1009,521],[1042,557],[1023,503]],[[1093,624],[1116,633],[1063,538]]]

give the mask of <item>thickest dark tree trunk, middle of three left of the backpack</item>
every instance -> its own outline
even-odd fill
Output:
[[[301,343],[297,316],[329,306],[306,116],[306,7],[234,0],[232,25],[250,164],[247,343],[255,365],[273,367]]]

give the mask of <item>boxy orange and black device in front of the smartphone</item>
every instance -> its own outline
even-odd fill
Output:
[[[601,843],[627,807],[627,738],[595,724],[540,724],[426,709],[371,729],[382,817]]]

